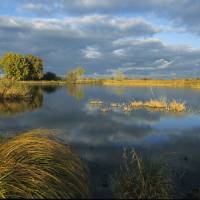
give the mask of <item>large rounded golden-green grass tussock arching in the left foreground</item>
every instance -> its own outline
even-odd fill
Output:
[[[88,198],[88,185],[79,156],[48,130],[0,146],[0,198]]]

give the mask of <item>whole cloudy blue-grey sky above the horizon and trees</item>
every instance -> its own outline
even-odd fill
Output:
[[[199,20],[199,0],[0,0],[0,56],[32,53],[59,75],[197,77]]]

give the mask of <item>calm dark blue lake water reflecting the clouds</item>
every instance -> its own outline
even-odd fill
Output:
[[[186,103],[190,112],[175,115],[136,110],[102,113],[88,102],[130,102],[164,97]],[[110,197],[110,176],[119,168],[124,147],[167,162],[180,190],[200,186],[200,90],[126,87],[36,88],[31,102],[0,104],[0,134],[35,128],[61,131],[86,161],[96,197]],[[181,178],[180,178],[181,177]]]

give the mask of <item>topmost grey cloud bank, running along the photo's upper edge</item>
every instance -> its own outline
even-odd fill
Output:
[[[20,3],[19,3],[20,2]],[[24,0],[18,1],[18,7],[35,15],[83,15],[91,13],[104,14],[153,14],[171,20],[176,26],[187,28],[188,31],[200,34],[200,1],[180,0]],[[51,12],[50,12],[51,11]]]

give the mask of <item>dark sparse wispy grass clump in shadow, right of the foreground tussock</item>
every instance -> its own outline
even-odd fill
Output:
[[[112,179],[113,194],[120,199],[169,199],[171,181],[164,168],[125,150],[120,171]]]

